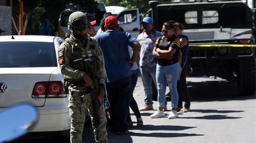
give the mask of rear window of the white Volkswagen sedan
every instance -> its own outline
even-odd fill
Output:
[[[0,42],[0,68],[57,67],[53,43]]]

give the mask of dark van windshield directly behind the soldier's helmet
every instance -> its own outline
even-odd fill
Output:
[[[96,20],[96,24],[94,26],[100,25],[100,20],[103,19],[104,11],[96,11],[96,12],[86,12],[83,11],[90,21]],[[73,12],[62,12],[61,14],[61,26],[68,26],[67,21],[69,19],[70,14]]]

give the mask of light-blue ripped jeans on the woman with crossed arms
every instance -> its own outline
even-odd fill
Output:
[[[171,94],[172,107],[178,107],[179,95],[177,91],[177,81],[180,71],[180,63],[169,66],[156,65],[156,83],[157,83],[157,101],[158,107],[165,107],[166,85],[168,85]]]

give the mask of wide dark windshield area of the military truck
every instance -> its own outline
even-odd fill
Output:
[[[221,8],[222,7],[222,8]],[[198,23],[197,15],[202,12],[202,24]],[[216,14],[214,14],[216,13]],[[149,13],[151,14],[151,12]],[[214,15],[213,15],[214,14]],[[212,18],[210,18],[213,15]],[[228,18],[228,20],[227,20]],[[249,28],[251,13],[243,3],[203,4],[158,7],[158,25],[161,29],[164,22],[174,20],[184,24],[186,29],[198,28]]]

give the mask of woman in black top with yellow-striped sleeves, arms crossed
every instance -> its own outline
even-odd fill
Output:
[[[172,99],[172,110],[168,115],[169,119],[178,117],[178,91],[177,79],[180,71],[181,52],[180,40],[174,35],[172,21],[165,22],[162,27],[163,35],[156,40],[153,55],[158,59],[156,65],[156,83],[158,91],[158,110],[152,114],[151,118],[164,117],[163,108],[166,100],[166,84],[170,89]]]

